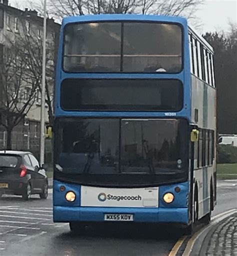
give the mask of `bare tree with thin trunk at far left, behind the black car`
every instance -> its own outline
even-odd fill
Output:
[[[0,62],[0,124],[7,133],[7,149],[11,149],[13,128],[24,119],[34,103],[36,80],[28,75],[22,43],[6,46]],[[26,87],[27,86],[27,87]],[[26,89],[25,89],[26,88]]]

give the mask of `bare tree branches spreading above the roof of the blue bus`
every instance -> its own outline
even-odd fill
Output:
[[[42,3],[31,7],[42,13]],[[204,0],[49,0],[48,13],[55,19],[85,14],[156,14],[195,19]]]

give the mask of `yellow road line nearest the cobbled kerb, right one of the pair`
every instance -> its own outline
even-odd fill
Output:
[[[204,226],[203,228],[201,228],[200,230],[198,230],[197,232],[194,233],[194,235],[189,239],[189,241],[187,242],[187,245],[185,247],[185,250],[182,254],[182,256],[189,256],[190,252],[192,250],[192,247],[195,243],[195,241],[197,240],[197,238],[209,227],[213,226],[214,224],[218,223],[218,221],[221,221],[223,219],[225,219],[226,217],[228,217],[229,215],[231,215],[232,213],[237,212],[237,209],[233,209],[233,210],[229,210],[227,212],[224,213],[220,213],[218,215],[216,215],[214,218],[211,219],[211,222],[209,225]]]

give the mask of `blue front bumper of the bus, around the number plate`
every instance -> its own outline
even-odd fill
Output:
[[[54,222],[102,222],[104,214],[132,214],[133,222],[188,223],[187,208],[106,208],[53,206]]]

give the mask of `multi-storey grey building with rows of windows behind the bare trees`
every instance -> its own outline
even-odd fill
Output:
[[[59,35],[60,25],[55,23],[53,19],[47,19],[47,38],[46,38],[46,49],[47,49],[47,61],[46,61],[46,84],[48,88],[48,95],[52,103],[53,98],[53,85],[54,85],[54,71],[55,71],[55,60],[57,52],[57,41]],[[10,7],[8,0],[0,0],[0,64],[3,63],[4,54],[6,54],[7,47],[13,47],[11,49],[18,51],[17,47],[19,44],[30,45],[30,50],[25,51],[25,60],[27,56],[32,58],[34,56],[35,68],[28,66],[27,62],[23,65],[24,75],[21,79],[22,82],[17,87],[11,97],[14,97],[17,93],[17,106],[22,106],[29,97],[33,97],[33,104],[27,114],[24,114],[22,120],[13,128],[11,134],[11,148],[13,150],[31,150],[35,153],[39,150],[39,137],[40,137],[40,84],[41,84],[41,67],[37,66],[40,63],[41,57],[41,45],[43,37],[43,18],[38,16],[36,11],[25,9],[24,11]],[[25,40],[25,41],[24,41]],[[23,43],[26,42],[26,43]],[[28,42],[28,43],[27,43]],[[35,48],[33,48],[35,47]],[[38,47],[38,48],[37,48]],[[26,47],[28,48],[28,47]],[[30,52],[31,51],[31,52]],[[30,54],[31,53],[31,54]],[[8,58],[9,59],[9,58]],[[31,59],[30,59],[31,60]],[[20,62],[20,61],[19,61]],[[32,64],[33,65],[33,64]],[[3,69],[3,68],[2,68]],[[27,72],[28,70],[28,72]],[[32,72],[30,71],[32,70]],[[37,72],[36,72],[36,71]],[[35,73],[34,73],[35,71]],[[20,72],[20,71],[17,71]],[[30,77],[26,78],[26,75],[30,74]],[[30,78],[30,79],[29,79]],[[38,79],[38,80],[37,80]],[[39,81],[40,80],[40,81]],[[32,82],[33,81],[33,82]],[[33,85],[32,83],[35,83]],[[3,79],[0,78],[0,149],[5,149],[7,146],[7,131],[2,125],[4,122],[3,111],[4,102],[6,96],[4,96],[5,84]],[[9,86],[9,85],[7,85]],[[34,86],[34,87],[33,87]],[[35,89],[37,87],[37,89]],[[7,87],[8,88],[8,87]],[[32,96],[32,91],[34,95]],[[46,97],[46,101],[49,98]],[[52,105],[47,101],[45,104],[45,117],[48,120],[48,112],[52,117]],[[50,109],[49,109],[50,108]],[[10,110],[11,111],[11,110]],[[14,110],[13,110],[14,112]]]

